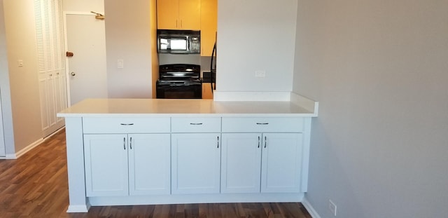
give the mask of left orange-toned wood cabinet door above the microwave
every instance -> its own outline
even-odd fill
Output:
[[[158,29],[178,29],[179,25],[179,0],[158,0]]]

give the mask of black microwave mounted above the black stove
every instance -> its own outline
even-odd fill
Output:
[[[195,30],[158,29],[158,53],[199,54],[201,32]]]

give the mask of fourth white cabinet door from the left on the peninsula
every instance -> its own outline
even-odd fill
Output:
[[[223,133],[221,193],[260,193],[262,135]]]

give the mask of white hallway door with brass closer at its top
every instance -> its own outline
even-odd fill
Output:
[[[94,14],[64,14],[70,105],[86,98],[107,97],[104,20]]]

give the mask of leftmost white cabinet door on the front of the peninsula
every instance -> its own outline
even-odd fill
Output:
[[[86,196],[127,196],[127,135],[84,135]]]

